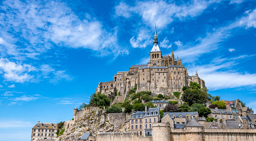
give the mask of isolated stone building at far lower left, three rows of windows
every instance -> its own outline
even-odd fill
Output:
[[[38,123],[32,128],[31,141],[37,139],[56,139],[58,124],[56,123]]]

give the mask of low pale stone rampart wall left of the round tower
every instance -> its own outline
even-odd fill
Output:
[[[98,133],[96,141],[153,141],[152,136],[138,136],[138,132]]]

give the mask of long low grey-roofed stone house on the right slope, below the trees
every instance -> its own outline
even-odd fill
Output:
[[[209,118],[214,118],[214,119],[234,119],[234,116],[229,110],[227,109],[218,109],[216,108],[210,108],[212,113],[208,114]]]

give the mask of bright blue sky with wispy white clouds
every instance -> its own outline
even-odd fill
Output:
[[[255,0],[1,0],[0,141],[71,120],[99,82],[147,64],[155,21],[163,55],[256,110]]]

